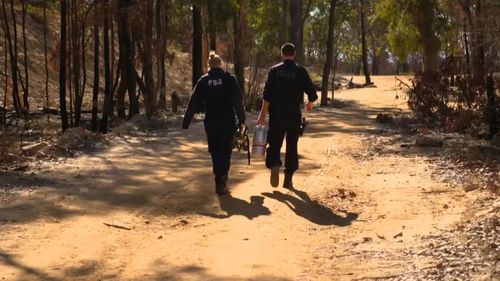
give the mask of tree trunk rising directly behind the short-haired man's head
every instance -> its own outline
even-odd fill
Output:
[[[302,0],[291,0],[290,19],[290,41],[295,45],[295,60],[299,64],[304,64],[304,25],[302,21]]]

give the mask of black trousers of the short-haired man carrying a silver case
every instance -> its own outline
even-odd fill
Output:
[[[286,135],[286,155],[285,155],[285,173],[294,173],[299,168],[299,155],[297,151],[297,142],[299,141],[300,123],[269,123],[267,132],[266,167],[281,166],[283,163],[280,158],[280,150],[283,145],[283,139]]]

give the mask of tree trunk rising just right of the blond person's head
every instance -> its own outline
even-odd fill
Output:
[[[245,38],[245,0],[238,0],[238,11],[233,18],[234,29],[234,74],[245,97],[245,63],[244,63],[244,38]]]

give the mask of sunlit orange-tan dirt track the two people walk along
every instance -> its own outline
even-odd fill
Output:
[[[367,149],[376,114],[404,110],[394,78],[374,80],[307,114],[294,191],[235,153],[232,194],[215,196],[201,123],[0,174],[0,280],[371,280],[436,266],[399,253],[476,194],[435,180],[424,154]]]

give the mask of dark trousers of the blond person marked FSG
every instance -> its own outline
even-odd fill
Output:
[[[236,132],[234,123],[205,121],[208,151],[212,155],[212,169],[219,178],[227,175],[231,166],[231,152],[233,150],[233,136]]]

